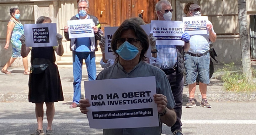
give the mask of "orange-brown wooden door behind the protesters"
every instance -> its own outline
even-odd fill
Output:
[[[145,23],[156,20],[155,4],[159,0],[89,0],[89,13],[96,16],[101,28],[120,26],[131,17],[139,17],[143,13]],[[142,12],[142,10],[144,12]]]

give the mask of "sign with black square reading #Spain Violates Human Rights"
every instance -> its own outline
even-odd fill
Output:
[[[24,24],[26,46],[58,46],[56,23]]]

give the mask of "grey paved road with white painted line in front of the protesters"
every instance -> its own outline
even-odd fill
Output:
[[[185,103],[184,103],[185,104]],[[241,135],[256,134],[255,102],[210,102],[212,108],[185,108],[182,122],[184,135]],[[79,108],[69,109],[70,102],[55,103],[53,129],[55,135],[102,135],[101,129],[89,128]],[[44,109],[46,107],[44,105]],[[44,128],[47,119],[44,117]],[[28,135],[36,130],[34,104],[0,102],[0,135]],[[164,125],[163,133],[171,135]]]

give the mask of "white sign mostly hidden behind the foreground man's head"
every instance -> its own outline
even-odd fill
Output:
[[[144,29],[144,31],[146,32],[147,35],[150,34],[150,25],[141,25],[141,27]],[[116,32],[116,30],[118,29],[118,27],[105,27],[105,57],[106,57],[106,60],[108,59],[115,59],[116,56],[113,55],[113,51],[111,49],[111,39],[112,39],[112,36],[113,34]],[[149,49],[148,51],[146,52],[145,54],[146,57],[152,57],[151,56],[151,48],[150,48],[150,45],[149,45]]]

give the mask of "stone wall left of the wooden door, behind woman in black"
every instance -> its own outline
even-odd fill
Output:
[[[67,21],[77,13],[76,0],[1,0],[0,1],[0,67],[3,67],[10,59],[12,47],[5,50],[7,23],[10,19],[9,9],[17,7],[20,9],[20,21],[24,24],[35,23],[40,16],[47,16],[57,23],[57,32],[64,37],[63,29]],[[63,38],[64,53],[70,53],[69,41]],[[30,54],[28,55],[30,61]],[[56,55],[56,60],[60,56]],[[28,62],[30,63],[30,62]],[[23,66],[22,58],[18,58],[11,66]]]

